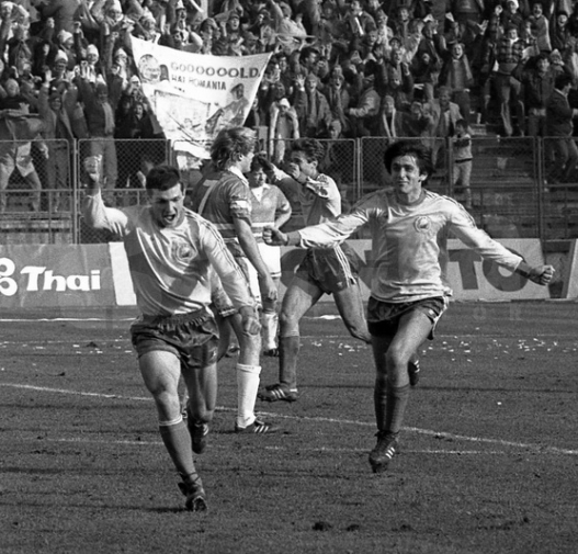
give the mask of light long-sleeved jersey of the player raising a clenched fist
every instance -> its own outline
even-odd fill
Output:
[[[234,306],[253,306],[245,276],[209,222],[185,210],[174,228],[161,228],[148,206],[105,207],[101,194],[87,196],[87,222],[124,241],[137,305],[144,315],[168,316],[211,304],[211,268]]]

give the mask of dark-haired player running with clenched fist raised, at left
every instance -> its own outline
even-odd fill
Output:
[[[254,299],[217,229],[184,207],[184,185],[177,169],[150,170],[148,205],[112,208],[102,201],[98,160],[87,158],[84,168],[89,181],[84,219],[122,237],[128,257],[141,313],[131,327],[132,341],[157,407],[160,436],[182,478],[179,487],[186,508],[205,510],[193,452],[205,449],[217,393],[218,328],[208,308],[211,271],[218,273],[250,335],[260,330]],[[186,423],[178,394],[181,374],[189,393]]]

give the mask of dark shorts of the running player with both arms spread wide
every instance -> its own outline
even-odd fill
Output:
[[[397,332],[399,319],[410,312],[422,312],[432,323],[428,339],[433,339],[433,331],[442,314],[447,309],[447,297],[435,296],[415,302],[382,302],[370,296],[367,302],[367,330],[374,337],[390,337]]]

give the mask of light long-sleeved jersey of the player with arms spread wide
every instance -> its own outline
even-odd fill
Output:
[[[522,258],[478,229],[454,200],[423,190],[412,205],[399,204],[393,191],[363,197],[349,214],[290,234],[303,248],[339,244],[362,225],[372,235],[372,296],[384,302],[413,302],[449,296],[447,238],[460,238],[484,258],[514,270]]]

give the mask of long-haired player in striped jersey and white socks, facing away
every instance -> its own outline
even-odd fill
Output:
[[[263,309],[273,306],[276,284],[261,258],[251,228],[250,189],[243,173],[251,169],[254,156],[254,132],[246,127],[222,129],[211,147],[215,168],[197,184],[191,196],[192,208],[215,224],[235,260],[252,283],[253,296],[261,295]],[[254,404],[261,373],[261,336],[247,333],[239,314],[227,318],[239,341],[237,362],[238,433],[270,433],[276,426],[257,418]],[[222,339],[223,340],[223,339]]]

